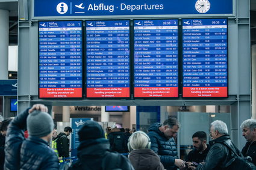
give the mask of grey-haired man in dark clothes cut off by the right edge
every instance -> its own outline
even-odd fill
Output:
[[[245,157],[251,157],[252,163],[256,165],[256,120],[245,120],[241,124],[240,128],[242,129],[243,136],[247,141],[245,147],[242,149],[242,154]]]

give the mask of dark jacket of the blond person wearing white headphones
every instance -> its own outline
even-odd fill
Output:
[[[164,170],[160,158],[150,149],[131,151],[129,160],[135,170]]]

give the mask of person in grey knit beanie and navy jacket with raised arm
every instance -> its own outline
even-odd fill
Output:
[[[58,157],[48,147],[54,121],[45,105],[36,104],[11,121],[5,141],[4,169],[58,169]],[[24,138],[27,127],[29,137]]]

